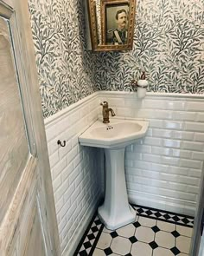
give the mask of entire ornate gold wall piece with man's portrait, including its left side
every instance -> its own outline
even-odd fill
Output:
[[[136,0],[100,0],[101,39],[99,43],[95,1],[88,1],[92,50],[130,50],[133,45]],[[121,29],[121,18],[125,28]]]

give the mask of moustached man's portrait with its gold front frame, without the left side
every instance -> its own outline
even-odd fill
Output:
[[[132,49],[135,21],[134,0],[102,0],[102,44],[109,49]]]

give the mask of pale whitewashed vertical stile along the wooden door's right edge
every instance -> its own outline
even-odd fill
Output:
[[[22,108],[28,128],[30,153],[38,159],[36,179],[37,205],[41,230],[48,256],[61,255],[59,231],[54,206],[54,192],[48,161],[48,145],[41,109],[41,95],[35,62],[35,49],[27,0],[0,0],[1,15],[10,19]]]

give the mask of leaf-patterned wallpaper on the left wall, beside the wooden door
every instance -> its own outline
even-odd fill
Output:
[[[44,117],[96,91],[80,0],[29,0]]]

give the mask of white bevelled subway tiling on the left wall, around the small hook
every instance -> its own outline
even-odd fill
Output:
[[[102,197],[99,151],[78,142],[98,115],[99,99],[92,95],[45,120],[62,255],[72,255]]]

